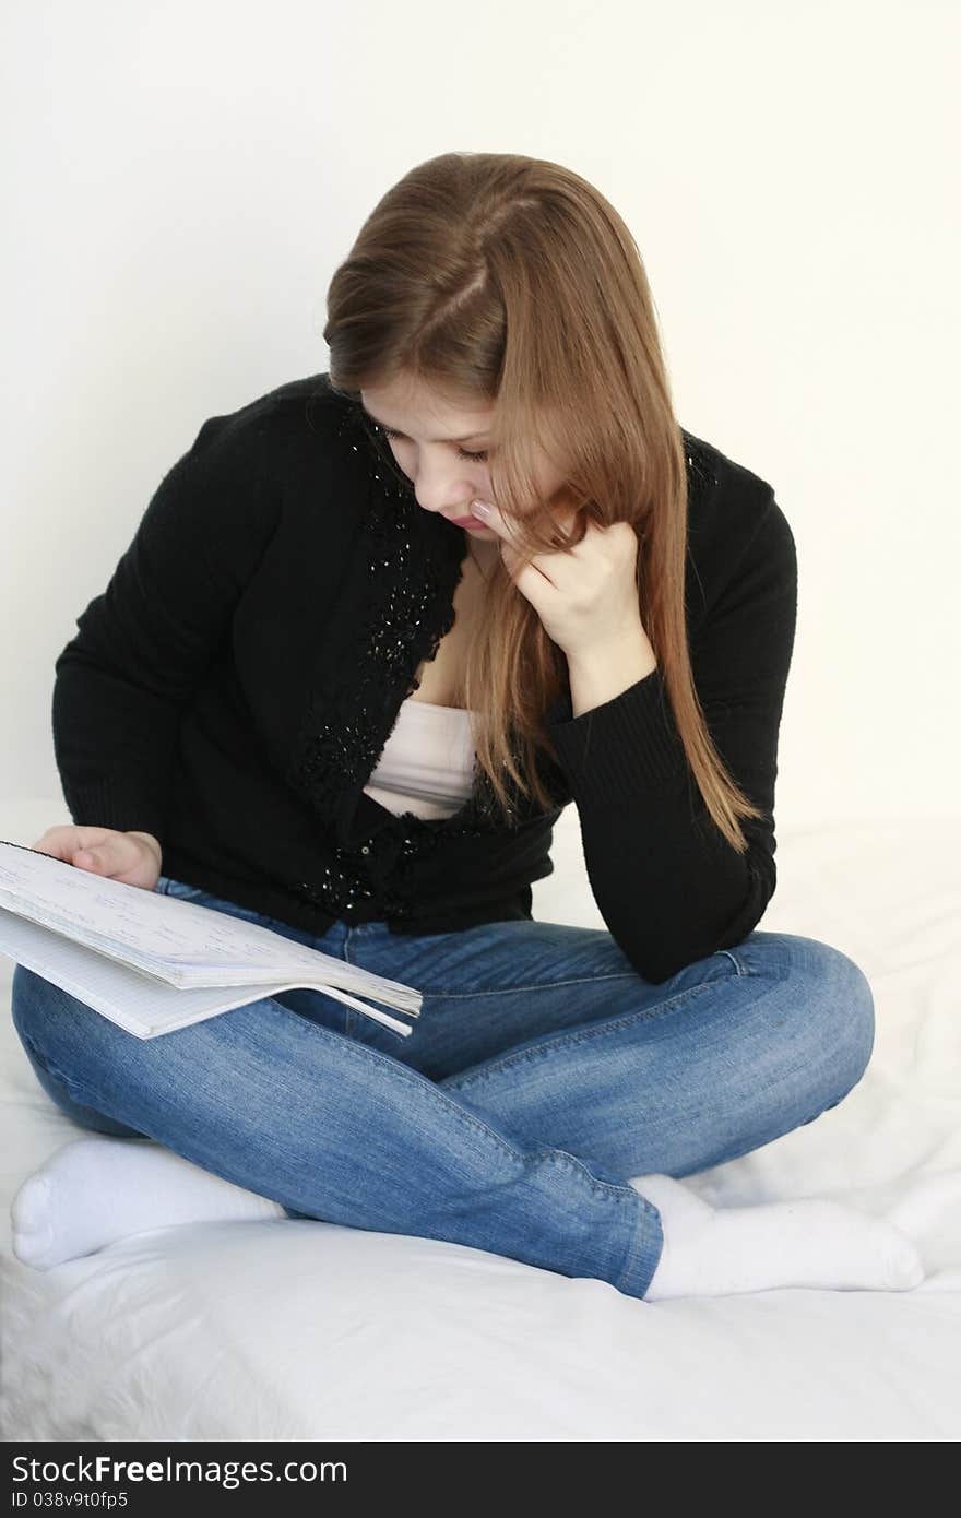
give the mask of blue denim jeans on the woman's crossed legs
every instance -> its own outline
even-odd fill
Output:
[[[642,1298],[663,1234],[629,1178],[771,1143],[837,1107],[871,1057],[868,981],[814,938],[755,931],[653,985],[595,927],[337,921],[311,937],[167,876],[156,890],[424,993],[410,1037],[295,990],[144,1040],[15,967],[14,1023],[61,1111],[153,1138],[290,1217]]]

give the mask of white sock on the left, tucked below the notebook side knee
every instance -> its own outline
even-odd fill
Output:
[[[114,1239],[223,1219],[285,1217],[279,1202],[203,1170],[150,1138],[74,1138],[11,1202],[14,1254],[35,1271]]]

